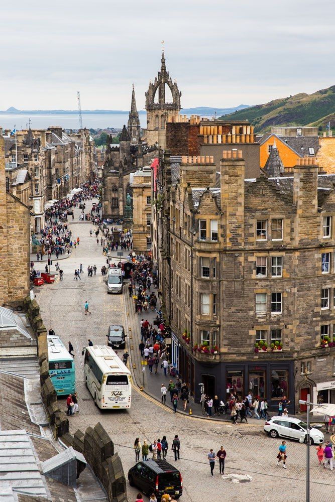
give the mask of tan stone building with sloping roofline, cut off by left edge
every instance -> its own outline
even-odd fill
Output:
[[[7,188],[0,128],[0,306],[15,306],[30,289],[30,209]]]

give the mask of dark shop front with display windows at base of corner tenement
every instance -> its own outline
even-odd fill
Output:
[[[195,361],[196,400],[200,399],[197,384],[204,384],[208,396],[217,395],[227,402],[232,393],[244,399],[249,393],[258,399],[267,399],[269,410],[277,412],[283,396],[291,401],[288,409],[294,407],[294,363],[262,361],[243,363],[203,363]]]

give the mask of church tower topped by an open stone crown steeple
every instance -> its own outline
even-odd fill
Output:
[[[156,97],[158,90],[158,99]],[[172,102],[166,101],[165,92],[171,91]],[[154,83],[150,81],[146,92],[147,131],[146,140],[148,145],[156,143],[166,148],[165,123],[168,115],[178,115],[180,111],[180,96],[177,83],[172,82],[165,66],[164,49],[161,59],[161,69]],[[155,99],[156,98],[156,99]]]

